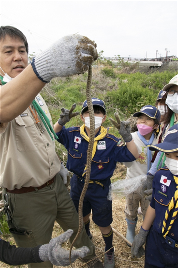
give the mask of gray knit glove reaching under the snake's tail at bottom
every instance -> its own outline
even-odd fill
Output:
[[[42,261],[50,261],[56,266],[68,266],[69,262],[69,250],[61,247],[71,237],[73,230],[69,229],[60,236],[50,240],[49,244],[42,245],[39,248],[39,258]],[[77,250],[71,251],[71,262],[74,262],[77,258],[84,258],[90,250],[88,247],[83,246]]]

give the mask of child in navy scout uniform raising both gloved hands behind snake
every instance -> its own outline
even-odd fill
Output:
[[[107,200],[109,192],[110,178],[114,172],[117,161],[129,162],[138,158],[138,151],[130,134],[128,122],[120,123],[120,135],[123,136],[126,146],[120,140],[108,133],[101,124],[106,120],[106,109],[101,99],[92,98],[95,115],[95,142],[92,152],[92,164],[90,181],[83,202],[83,222],[90,238],[90,212],[92,209],[92,219],[101,230],[105,241],[105,251],[112,248],[112,201]],[[62,108],[60,119],[54,126],[54,131],[58,136],[58,141],[65,146],[68,151],[67,169],[74,173],[71,178],[70,195],[78,211],[80,194],[85,182],[85,166],[87,158],[88,142],[90,138],[90,118],[87,101],[82,105],[81,120],[84,123],[81,127],[65,128],[63,125],[73,116],[71,110]],[[76,113],[74,114],[74,116]],[[114,249],[105,253],[104,267],[115,267]]]

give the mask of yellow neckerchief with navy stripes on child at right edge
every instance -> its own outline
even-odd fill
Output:
[[[174,180],[175,180],[175,183],[177,184],[177,186],[176,186],[176,191],[174,193],[174,196],[172,197],[171,202],[169,203],[169,207],[168,207],[168,209],[166,210],[166,213],[165,213],[165,218],[163,220],[162,233],[164,233],[164,230],[166,228],[166,222],[167,222],[169,213],[170,213],[171,209],[174,208],[174,205],[175,204],[176,205],[175,205],[175,208],[174,208],[174,212],[172,214],[172,219],[171,219],[171,222],[169,224],[169,227],[168,227],[166,233],[163,234],[164,237],[166,237],[166,235],[169,233],[169,230],[171,229],[171,227],[172,227],[172,225],[174,223],[174,220],[176,218],[177,212],[178,212],[178,190],[177,190],[177,188],[178,188],[178,177],[176,177],[176,176],[173,176],[173,177],[174,177]]]

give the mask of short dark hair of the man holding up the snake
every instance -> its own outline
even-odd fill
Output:
[[[25,48],[26,48],[26,52],[28,54],[28,43],[27,43],[27,39],[25,37],[25,35],[17,28],[13,27],[13,26],[1,26],[0,28],[0,40],[6,37],[6,35],[9,35],[11,38],[16,38],[16,39],[20,39],[21,41],[23,41]]]

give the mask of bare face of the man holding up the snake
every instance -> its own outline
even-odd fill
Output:
[[[14,78],[28,65],[28,55],[22,40],[9,35],[0,41],[0,63],[4,73]],[[1,70],[1,73],[2,73]]]

